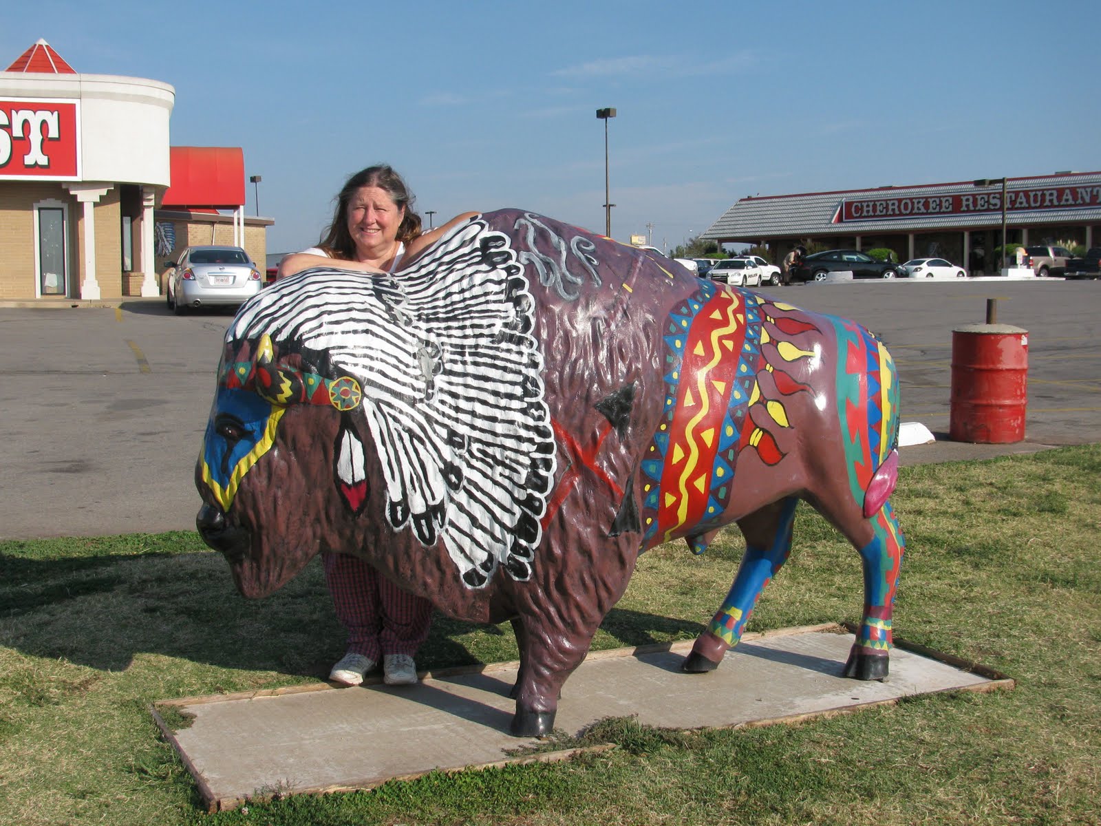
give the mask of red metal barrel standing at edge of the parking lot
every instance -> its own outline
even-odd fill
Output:
[[[1025,437],[1028,330],[969,324],[952,330],[948,436],[953,442],[1009,444]]]

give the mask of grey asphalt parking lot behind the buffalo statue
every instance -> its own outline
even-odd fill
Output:
[[[898,366],[903,421],[936,444],[903,464],[1101,441],[1101,282],[847,282],[761,292],[854,318]],[[947,441],[952,329],[1028,332],[1025,441]],[[163,300],[118,307],[0,306],[0,539],[194,530],[195,459],[231,313],[176,317]]]

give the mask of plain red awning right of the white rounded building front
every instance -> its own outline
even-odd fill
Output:
[[[170,146],[172,185],[163,208],[237,209],[244,206],[244,152],[240,146]]]

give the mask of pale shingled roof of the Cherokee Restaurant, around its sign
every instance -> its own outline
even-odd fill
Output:
[[[999,182],[1000,183],[1000,182]],[[1035,186],[1098,186],[1101,172],[1011,177],[1007,182],[1013,189]],[[994,187],[991,187],[994,188]],[[852,236],[883,233],[890,227],[881,220],[838,220],[838,213],[846,200],[883,197],[929,197],[935,195],[971,194],[977,191],[974,182],[958,181],[947,184],[922,184],[917,186],[882,186],[870,189],[839,189],[836,192],[803,193],[797,195],[768,195],[745,197],[730,207],[706,232],[704,240],[755,241],[762,238],[804,238],[819,236]],[[978,213],[967,215],[912,215],[898,219],[898,231],[922,231],[923,229],[960,230],[973,227],[989,227],[1000,222],[1001,214]],[[1009,226],[1051,222],[1093,222],[1101,220],[1101,206],[1073,209],[1013,209],[1006,216]]]

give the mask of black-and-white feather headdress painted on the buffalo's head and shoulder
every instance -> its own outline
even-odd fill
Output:
[[[425,544],[443,539],[481,587],[513,555],[534,557],[554,478],[534,307],[509,237],[473,219],[403,272],[282,280],[241,309],[227,343],[266,334],[281,354],[319,351],[356,377],[388,519]]]

